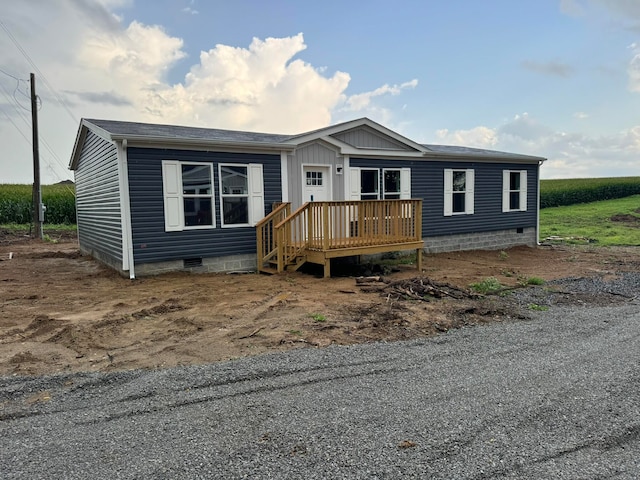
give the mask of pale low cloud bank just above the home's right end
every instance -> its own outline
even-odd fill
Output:
[[[496,127],[436,131],[434,143],[490,148],[547,158],[543,178],[613,177],[637,170],[640,125],[613,135],[564,133],[528,114]]]

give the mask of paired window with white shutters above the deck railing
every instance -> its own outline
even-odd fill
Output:
[[[351,200],[394,200],[411,198],[410,168],[349,169]]]

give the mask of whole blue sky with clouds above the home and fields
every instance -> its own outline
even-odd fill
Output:
[[[81,118],[420,143],[640,175],[640,0],[0,0],[0,183],[73,179]]]

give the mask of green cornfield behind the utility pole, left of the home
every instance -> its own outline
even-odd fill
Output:
[[[76,198],[73,185],[42,186],[42,203],[47,207],[45,224],[76,223]],[[31,185],[0,185],[0,224],[28,224],[32,215]]]

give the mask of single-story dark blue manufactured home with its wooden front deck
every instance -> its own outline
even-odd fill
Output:
[[[544,158],[424,145],[368,118],[299,135],[83,119],[80,249],[123,275],[282,271],[534,246]]]

